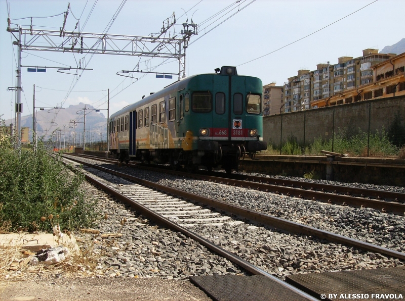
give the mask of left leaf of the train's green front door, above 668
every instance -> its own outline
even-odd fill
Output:
[[[215,140],[229,139],[229,79],[215,76],[213,86],[213,127]]]

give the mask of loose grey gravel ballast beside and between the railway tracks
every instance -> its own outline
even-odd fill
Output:
[[[95,163],[95,161],[91,163]],[[99,163],[100,164],[100,163]],[[252,210],[290,219],[338,234],[366,240],[398,251],[405,250],[403,217],[372,209],[353,209],[270,194],[246,188],[179,178],[133,168],[105,167],[147,180],[220,199]],[[98,190],[97,190],[98,191]],[[101,192],[99,192],[101,193]],[[94,194],[94,192],[92,192]],[[142,217],[111,197],[103,196],[101,232],[116,232],[126,217],[122,237],[92,237],[100,254],[98,271],[104,276],[163,277],[186,279],[190,275],[244,274],[237,266],[211,254],[199,243],[170,230],[149,225]],[[316,212],[314,214],[314,212]],[[194,229],[195,228],[195,229]],[[379,254],[358,252],[339,244],[300,235],[274,232],[249,224],[191,228],[223,248],[284,279],[286,275],[336,270],[370,269],[402,265],[401,261]],[[90,235],[88,234],[90,237]]]

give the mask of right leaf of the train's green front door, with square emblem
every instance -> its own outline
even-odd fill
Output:
[[[230,140],[245,140],[245,77],[244,76],[230,76],[229,82],[231,83],[229,90],[231,94],[229,99],[231,103],[228,105],[229,112],[229,138]]]

